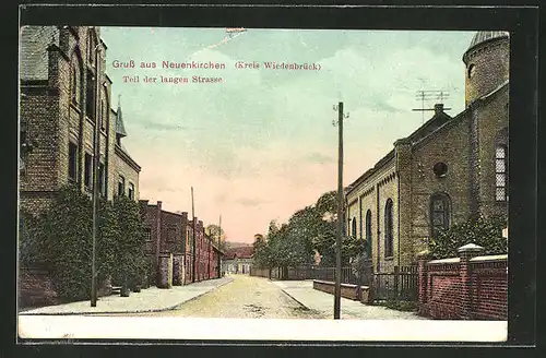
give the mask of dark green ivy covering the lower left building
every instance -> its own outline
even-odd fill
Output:
[[[141,282],[145,260],[144,232],[136,202],[118,198],[99,202],[96,241],[97,283],[122,276]],[[62,188],[51,207],[39,216],[21,213],[20,262],[49,270],[59,296],[88,299],[92,282],[93,206],[74,186]]]

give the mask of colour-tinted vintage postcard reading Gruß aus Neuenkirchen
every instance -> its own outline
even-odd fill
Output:
[[[21,26],[19,336],[505,342],[509,59],[501,28]]]

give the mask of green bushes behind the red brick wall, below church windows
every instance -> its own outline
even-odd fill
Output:
[[[502,237],[505,227],[507,220],[500,216],[470,218],[432,238],[429,242],[430,254],[435,259],[453,258],[458,255],[456,249],[467,243],[483,247],[483,254],[507,253],[508,239]]]

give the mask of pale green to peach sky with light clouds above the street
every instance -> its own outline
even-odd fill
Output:
[[[337,188],[343,102],[344,186],[423,123],[417,91],[446,91],[464,109],[473,32],[102,27],[112,107],[120,97],[129,154],[142,167],[140,199],[218,224],[228,241],[252,242]],[[134,68],[116,67],[130,63]],[[164,69],[163,61],[224,63]],[[156,68],[141,68],[155,62]],[[236,68],[238,62],[259,68]],[[266,69],[264,62],[320,70]],[[124,82],[123,76],[139,76]],[[192,83],[192,76],[222,82]],[[156,82],[144,82],[144,77]],[[159,82],[187,77],[188,83]],[[432,108],[439,100],[425,102]],[[425,121],[431,112],[425,112]]]

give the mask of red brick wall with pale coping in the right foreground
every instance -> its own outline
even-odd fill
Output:
[[[477,252],[463,249],[460,258],[420,258],[420,314],[441,320],[507,320],[507,255],[477,256]]]

